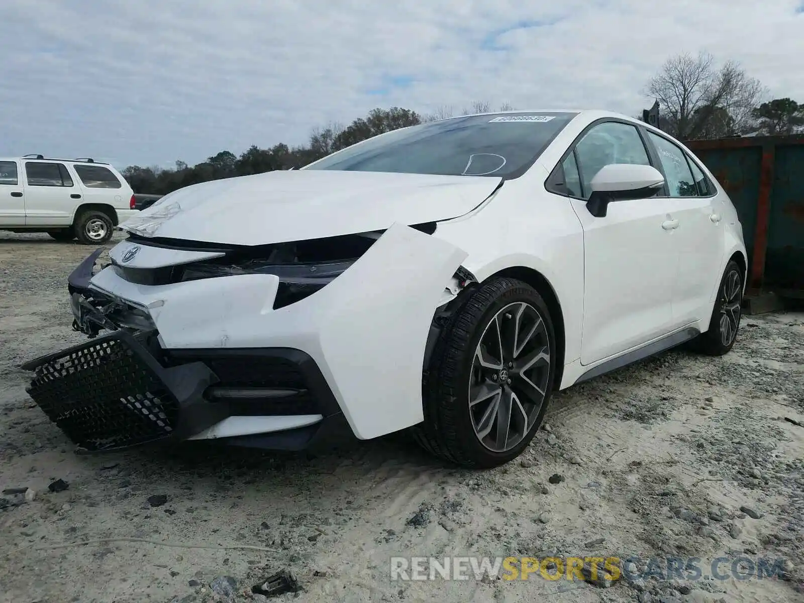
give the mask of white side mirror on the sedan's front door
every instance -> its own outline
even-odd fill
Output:
[[[592,195],[586,202],[586,208],[596,218],[602,218],[606,215],[609,203],[626,199],[646,199],[660,191],[662,186],[664,178],[655,167],[611,163],[601,167],[592,178]]]

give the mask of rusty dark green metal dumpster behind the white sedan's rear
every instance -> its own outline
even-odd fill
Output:
[[[734,203],[751,289],[804,289],[804,136],[690,141]]]

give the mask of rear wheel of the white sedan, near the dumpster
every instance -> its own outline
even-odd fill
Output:
[[[693,341],[695,349],[702,354],[722,356],[734,346],[740,330],[743,302],[743,271],[732,260],[728,262],[717,289],[715,307],[709,321],[709,330]]]

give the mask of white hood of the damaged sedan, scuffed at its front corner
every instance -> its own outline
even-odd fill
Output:
[[[121,224],[141,236],[258,245],[423,224],[472,211],[501,178],[288,170],[195,184]]]

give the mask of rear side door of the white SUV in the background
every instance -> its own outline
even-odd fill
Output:
[[[62,162],[25,162],[25,224],[69,226],[80,188]]]

